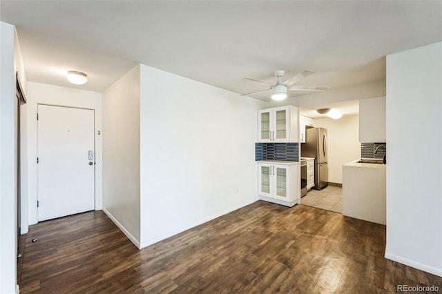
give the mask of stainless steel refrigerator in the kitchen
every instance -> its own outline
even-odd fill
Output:
[[[317,190],[329,184],[329,166],[327,159],[327,129],[307,128],[305,143],[301,144],[302,157],[315,157],[315,186]]]

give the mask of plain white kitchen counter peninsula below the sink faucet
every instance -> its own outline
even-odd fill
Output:
[[[343,165],[343,215],[385,224],[386,166],[358,161]]]

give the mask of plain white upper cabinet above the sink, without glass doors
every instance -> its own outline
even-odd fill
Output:
[[[385,96],[359,100],[359,141],[361,143],[384,143]]]

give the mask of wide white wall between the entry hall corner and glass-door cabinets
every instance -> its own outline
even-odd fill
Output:
[[[141,247],[258,200],[260,108],[141,65]]]

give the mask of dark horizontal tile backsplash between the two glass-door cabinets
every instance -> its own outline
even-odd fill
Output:
[[[298,143],[255,143],[255,160],[299,161]]]

